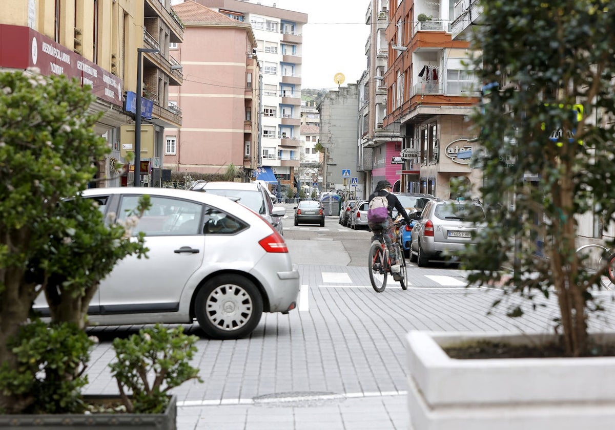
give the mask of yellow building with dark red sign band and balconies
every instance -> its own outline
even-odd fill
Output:
[[[161,184],[162,141],[165,127],[179,127],[181,114],[168,103],[169,87],[181,85],[173,69],[169,43],[181,42],[183,26],[170,9],[170,0],[4,0],[0,15],[0,69],[35,67],[41,74],[77,77],[97,96],[90,106],[103,112],[95,130],[113,152],[98,162],[97,186],[133,183],[133,173],[114,176],[124,162],[122,143],[134,142],[134,101],[138,48],[143,53],[143,106],[148,136],[142,139],[141,181]],[[122,141],[132,138],[132,143]],[[132,135],[131,135],[132,130]],[[132,169],[134,166],[132,166]]]

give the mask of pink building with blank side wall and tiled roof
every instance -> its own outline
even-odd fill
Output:
[[[165,131],[164,167],[224,173],[232,163],[249,181],[258,167],[260,126],[252,28],[192,0],[173,10],[186,29],[172,57],[189,79],[169,95],[183,112],[183,124]]]

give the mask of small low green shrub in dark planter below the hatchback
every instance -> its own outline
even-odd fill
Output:
[[[181,326],[167,329],[157,324],[113,341],[117,361],[109,367],[127,412],[161,413],[170,389],[191,379],[202,382],[199,369],[189,364],[197,340]]]

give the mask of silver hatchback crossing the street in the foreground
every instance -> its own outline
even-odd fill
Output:
[[[192,324],[209,337],[250,334],[263,312],[296,307],[299,273],[284,238],[257,213],[214,193],[167,188],[98,188],[108,222],[124,222],[141,196],[151,206],[132,235],[145,233],[147,258],[128,256],[90,302],[92,325]],[[34,303],[49,316],[44,295]]]

